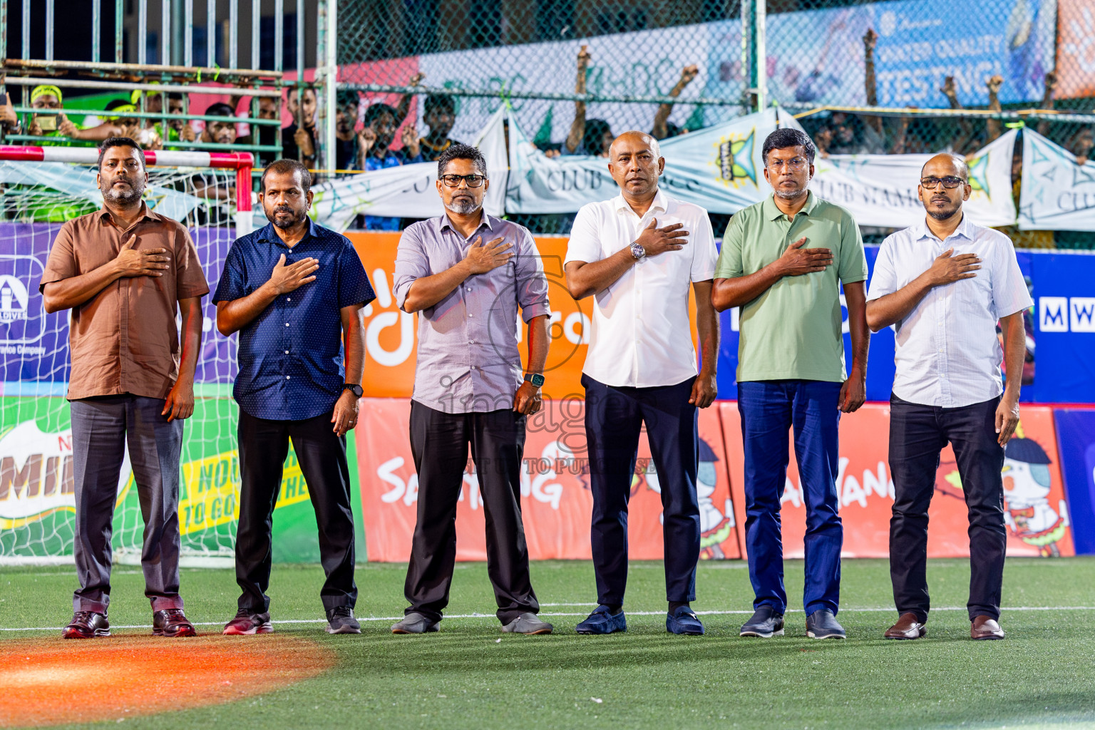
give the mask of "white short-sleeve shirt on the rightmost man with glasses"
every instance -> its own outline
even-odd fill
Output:
[[[904,288],[948,248],[956,256],[977,254],[981,268],[971,279],[934,287],[894,324],[894,394],[956,408],[1003,392],[996,322],[1034,304],[1011,240],[967,218],[946,241],[924,222],[898,231],[878,250],[867,300]]]

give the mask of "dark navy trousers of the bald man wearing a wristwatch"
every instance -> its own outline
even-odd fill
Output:
[[[695,600],[700,437],[696,407],[688,402],[694,380],[658,387],[613,387],[581,376],[593,493],[590,540],[600,604],[623,605],[627,587],[627,500],[643,424],[661,487],[666,600]]]

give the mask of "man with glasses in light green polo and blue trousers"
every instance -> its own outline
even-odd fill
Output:
[[[806,634],[844,637],[837,623],[843,528],[837,495],[837,427],[865,399],[867,262],[852,216],[807,189],[814,142],[777,129],[762,148],[773,195],[730,219],[712,301],[740,306],[738,410],[745,445],[746,545],[754,613],[741,636],[783,634],[780,498],[787,478],[787,431],[806,501]],[[852,335],[844,370],[840,285]]]

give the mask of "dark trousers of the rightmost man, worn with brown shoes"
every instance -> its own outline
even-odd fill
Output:
[[[950,442],[969,511],[969,617],[1000,617],[1004,576],[1004,450],[996,442],[1000,398],[940,408],[890,398],[890,579],[899,613],[927,621],[927,507],[940,451]]]

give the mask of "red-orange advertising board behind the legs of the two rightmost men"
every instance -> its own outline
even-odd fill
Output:
[[[721,403],[726,452],[730,457],[730,484],[736,521],[745,543],[745,480],[741,450],[741,420],[737,403]],[[1024,454],[1057,454],[1052,410],[1024,406],[1016,438],[1029,439]],[[889,472],[889,405],[867,404],[840,421],[840,462],[837,494],[844,523],[845,557],[888,557],[889,519],[894,506],[894,482]],[[1029,456],[1027,456],[1029,457]],[[1035,462],[1042,461],[1035,456]],[[1045,483],[1045,484],[1042,484]],[[1031,464],[1008,459],[1004,463],[1005,522],[1007,555],[1074,555],[1068,508],[1060,467],[1057,464]],[[782,498],[783,554],[803,557],[806,532],[806,505],[793,450],[787,482]],[[936,476],[935,495],[929,509],[927,556],[967,557],[966,501],[961,491],[954,452],[943,450]],[[1056,553],[1054,553],[1056,551]]]

